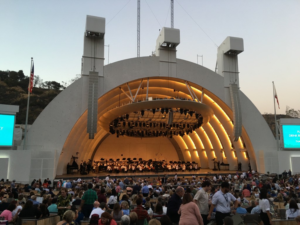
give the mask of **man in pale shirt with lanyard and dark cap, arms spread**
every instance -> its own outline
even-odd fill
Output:
[[[232,213],[235,214],[236,208],[238,207],[238,200],[233,196],[231,193],[229,193],[230,185],[228,182],[223,182],[221,184],[221,189],[217,191],[214,196],[212,197],[210,210],[208,212],[207,220],[210,220],[211,213],[214,210],[214,207],[216,207],[216,222],[217,225],[223,224],[223,219],[226,216],[230,216],[230,202],[234,202],[234,208]]]

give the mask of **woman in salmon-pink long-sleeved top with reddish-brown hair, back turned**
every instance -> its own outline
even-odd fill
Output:
[[[190,193],[185,193],[182,197],[182,205],[179,208],[179,225],[203,225],[203,220],[198,206],[193,202]]]

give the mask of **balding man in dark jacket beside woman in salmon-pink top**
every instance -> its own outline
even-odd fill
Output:
[[[184,194],[184,188],[178,186],[176,188],[176,193],[174,193],[168,201],[167,207],[167,216],[170,217],[173,223],[179,223],[180,215],[178,214],[178,210],[180,205],[182,204],[182,196]]]

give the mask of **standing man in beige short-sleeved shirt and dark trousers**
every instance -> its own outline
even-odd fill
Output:
[[[209,202],[208,202],[208,191],[211,189],[211,183],[209,181],[205,181],[202,183],[202,188],[196,192],[193,202],[199,208],[201,217],[203,219],[203,224],[207,225],[209,223],[208,212],[209,212]]]

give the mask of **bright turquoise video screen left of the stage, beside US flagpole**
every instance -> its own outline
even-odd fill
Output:
[[[0,114],[0,146],[13,146],[15,115]]]

